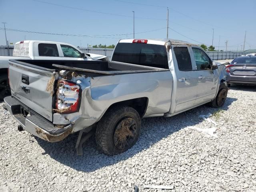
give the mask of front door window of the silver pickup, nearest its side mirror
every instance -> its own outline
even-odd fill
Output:
[[[196,60],[196,69],[197,70],[209,70],[211,69],[211,60],[210,58],[198,48],[192,48],[194,58]]]

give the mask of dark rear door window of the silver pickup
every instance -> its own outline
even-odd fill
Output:
[[[192,63],[187,47],[174,47],[174,54],[180,71],[192,70]]]

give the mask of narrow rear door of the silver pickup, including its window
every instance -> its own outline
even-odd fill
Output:
[[[173,52],[177,78],[175,112],[180,112],[195,105],[198,78],[193,73],[195,68],[188,46],[174,46]]]

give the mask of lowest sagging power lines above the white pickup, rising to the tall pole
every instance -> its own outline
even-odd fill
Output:
[[[137,32],[135,34],[142,34],[142,33],[147,33],[147,32],[153,32],[153,31],[158,31],[166,29],[160,28],[160,29],[154,29],[154,30],[149,30],[149,31],[144,31],[144,32]],[[4,28],[0,28],[0,30],[4,30]],[[20,30],[20,29],[10,29],[6,28],[8,31],[15,31],[15,32],[26,32],[26,33],[36,33],[36,34],[48,34],[48,35],[61,35],[61,36],[78,36],[78,37],[94,37],[94,38],[114,38],[114,37],[104,37],[104,36],[124,36],[124,35],[131,35],[133,33],[126,33],[126,34],[112,34],[112,35],[82,35],[82,34],[59,34],[59,33],[47,33],[47,32],[36,32],[36,31],[27,31],[27,30]],[[114,39],[120,39],[120,38],[114,38]]]

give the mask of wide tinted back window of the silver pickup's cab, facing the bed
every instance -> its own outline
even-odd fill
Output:
[[[163,45],[118,43],[112,61],[169,69],[167,51]]]

